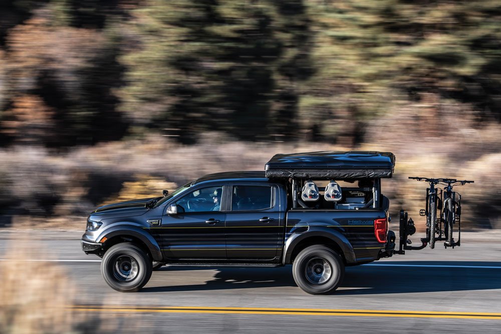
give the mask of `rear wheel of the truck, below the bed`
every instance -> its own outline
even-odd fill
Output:
[[[344,277],[344,263],[332,249],[315,245],[303,249],[292,265],[296,284],[311,294],[328,294]]]

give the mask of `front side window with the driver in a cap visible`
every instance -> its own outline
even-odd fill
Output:
[[[179,199],[177,210],[182,212],[207,212],[221,210],[222,186],[197,189]]]

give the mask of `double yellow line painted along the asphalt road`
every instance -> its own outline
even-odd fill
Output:
[[[211,307],[211,306],[86,306],[70,308],[92,312],[143,312],[143,313],[220,313],[220,314],[272,314],[272,315],[323,315],[323,316],[379,316],[379,317],[423,317],[463,318],[501,320],[501,313],[450,312],[450,311],[405,311],[367,309],[322,309],[322,308],[264,308],[264,307]]]

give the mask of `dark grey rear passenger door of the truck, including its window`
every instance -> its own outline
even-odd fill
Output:
[[[228,260],[276,259],[280,256],[283,233],[277,187],[264,183],[233,184],[228,188],[231,189],[231,205],[226,212]]]

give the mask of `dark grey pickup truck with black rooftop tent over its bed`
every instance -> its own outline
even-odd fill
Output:
[[[137,291],[168,266],[292,264],[304,291],[324,294],[345,266],[391,256],[389,152],[277,154],[265,171],[203,176],[164,196],[105,205],[88,218],[82,249],[102,257],[106,282]]]

